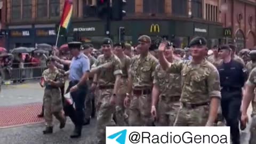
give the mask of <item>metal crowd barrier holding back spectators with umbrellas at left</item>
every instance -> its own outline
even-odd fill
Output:
[[[41,78],[45,69],[47,67],[2,68],[0,71],[3,81],[23,82]]]

